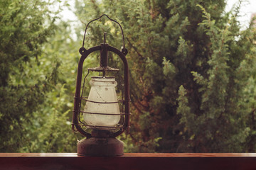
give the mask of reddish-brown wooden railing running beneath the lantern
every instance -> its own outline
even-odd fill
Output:
[[[256,154],[144,154],[79,157],[75,153],[0,153],[0,169],[256,169]]]

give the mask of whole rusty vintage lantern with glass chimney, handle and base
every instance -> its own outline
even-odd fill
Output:
[[[123,46],[121,51],[106,43],[104,34],[104,42],[96,47],[85,50],[85,35],[90,23],[99,20],[102,16],[106,16],[110,21],[117,23],[122,31]],[[124,33],[122,26],[109,18],[102,15],[95,20],[90,21],[85,28],[85,35],[82,47],[79,52],[81,54],[78,63],[78,76],[75,89],[75,101],[73,110],[73,131],[78,131],[86,138],[78,141],[78,155],[85,156],[117,156],[122,155],[124,150],[123,142],[115,137],[121,135],[124,130],[129,131],[129,72],[127,64],[127,49],[124,45]],[[83,63],[87,57],[93,52],[100,51],[100,66],[88,68],[87,74],[82,78]],[[117,97],[115,77],[109,76],[109,73],[119,72],[108,66],[108,53],[113,52],[122,60],[124,67],[123,80],[119,84],[123,85],[122,94]],[[90,73],[98,72],[98,76],[90,77]],[[83,96],[85,89],[85,79],[90,77],[90,93],[89,96]],[[82,85],[83,81],[83,85]],[[88,86],[86,88],[89,88]]]

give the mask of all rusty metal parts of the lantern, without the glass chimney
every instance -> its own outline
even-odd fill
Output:
[[[107,16],[107,15],[102,15],[102,16]],[[96,18],[93,21],[96,21],[100,19],[102,16],[99,18]],[[107,16],[107,18],[109,18]],[[111,18],[109,18],[111,21]],[[90,21],[93,22],[93,21]],[[117,22],[114,21],[119,25],[119,27],[122,30],[122,26]],[[89,24],[87,24],[85,28],[85,35],[86,35],[86,30]],[[119,141],[115,139],[114,137],[117,137],[118,135],[121,135],[124,130],[127,130],[129,132],[129,68],[128,68],[128,62],[125,57],[127,55],[128,50],[125,48],[124,44],[124,33],[122,30],[122,38],[123,38],[123,47],[122,50],[117,50],[117,48],[112,47],[106,43],[106,34],[104,34],[104,43],[101,44],[100,46],[92,47],[89,50],[86,50],[84,47],[84,42],[85,42],[85,35],[84,39],[82,42],[82,47],[80,48],[79,52],[81,54],[80,60],[78,62],[78,75],[77,75],[77,81],[76,81],[76,88],[75,88],[75,100],[74,100],[74,109],[73,109],[73,122],[72,122],[72,129],[75,132],[76,130],[80,132],[82,135],[87,137],[87,139],[81,140],[78,142],[78,154],[79,155],[89,155],[89,156],[103,156],[103,157],[109,157],[109,156],[119,156],[124,154],[124,144],[122,141]],[[85,59],[92,53],[100,51],[100,67],[95,67],[95,68],[89,68],[88,73],[83,79],[83,86],[82,85],[82,66],[83,63],[85,62]],[[90,73],[90,71],[93,72],[102,72],[102,77],[106,77],[106,72],[118,72],[119,69],[111,68],[108,66],[108,52],[114,52],[116,55],[121,58],[123,62],[123,67],[124,67],[124,94],[122,94],[122,100],[119,100],[118,102],[122,103],[122,112],[120,114],[114,114],[114,115],[124,115],[122,118],[124,121],[120,123],[121,125],[116,125],[113,127],[107,127],[107,126],[93,126],[93,125],[86,125],[80,120],[80,113],[87,113],[85,111],[81,111],[81,106],[82,106],[82,101],[86,102],[95,102],[96,101],[88,101],[86,97],[82,96],[83,91],[84,91],[84,86],[85,86],[85,79],[87,75]],[[101,75],[101,74],[100,74]],[[82,94],[81,94],[81,89],[82,89]],[[102,103],[102,102],[100,102]],[[110,102],[112,103],[112,102]],[[123,111],[124,109],[124,111]],[[91,113],[90,113],[91,114]],[[94,113],[94,114],[101,114],[105,115],[106,113]],[[113,114],[110,114],[113,115]],[[121,120],[119,121],[121,122]],[[86,128],[91,128],[93,129],[92,132],[87,132]],[[103,128],[109,128],[108,131],[104,130]]]

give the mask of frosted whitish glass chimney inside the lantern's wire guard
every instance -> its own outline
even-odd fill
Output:
[[[120,110],[115,91],[117,81],[115,81],[114,78],[92,77],[90,80],[90,86],[90,94],[87,98],[88,101],[85,104],[84,110],[86,113],[83,114],[85,123],[87,123],[87,125],[95,126],[117,125],[120,120]],[[90,113],[105,113],[106,115]]]

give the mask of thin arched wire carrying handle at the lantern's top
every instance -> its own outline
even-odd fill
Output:
[[[122,30],[122,26],[121,26],[117,21],[113,20],[112,18],[110,18],[110,17],[107,16],[106,14],[103,14],[102,16],[106,16],[108,19],[110,19],[110,21],[113,21],[114,23],[117,23],[118,26],[121,28],[121,31],[122,31],[122,40],[123,40],[123,46],[122,46],[121,52],[122,52],[124,55],[127,55],[128,50],[125,48],[124,32],[123,32],[123,30]],[[99,20],[100,18],[102,18],[102,16],[100,16],[99,18],[96,18],[96,19],[90,21],[89,23],[87,23],[87,26],[86,26],[86,28],[85,28],[85,35],[86,35],[86,30],[87,30],[89,24],[92,23],[93,21]],[[85,35],[84,35],[84,38],[83,38],[83,40],[82,40],[82,47],[81,47],[80,50],[79,50],[79,52],[80,52],[81,54],[82,54],[82,52],[85,52],[85,47],[84,47],[84,45],[85,45]]]

